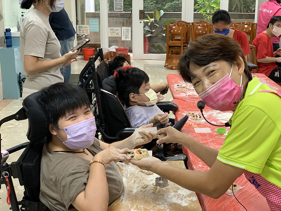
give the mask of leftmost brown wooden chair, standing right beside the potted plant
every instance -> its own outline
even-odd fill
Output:
[[[177,69],[179,55],[187,48],[190,38],[190,23],[174,22],[165,25],[166,28],[166,61],[164,67]]]

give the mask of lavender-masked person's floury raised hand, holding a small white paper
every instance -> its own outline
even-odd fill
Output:
[[[153,124],[149,124],[149,125],[144,125],[141,126],[140,128],[146,128],[146,127],[152,127]],[[159,136],[154,133],[154,132],[147,132],[145,130],[141,130],[138,132],[142,137],[140,138],[136,138],[136,132],[134,132],[129,138],[131,143],[133,143],[134,146],[138,146],[138,145],[143,145],[143,144],[147,144],[149,142],[151,142],[152,139],[158,138]]]

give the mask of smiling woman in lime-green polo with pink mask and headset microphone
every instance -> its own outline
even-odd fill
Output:
[[[191,42],[179,60],[179,73],[191,82],[206,105],[233,111],[231,128],[220,150],[172,127],[157,143],[177,142],[210,167],[208,172],[171,167],[156,158],[131,160],[178,185],[219,198],[244,173],[270,210],[281,210],[281,93],[253,78],[239,44],[225,35],[207,34]],[[173,172],[173,174],[171,174]],[[208,188],[206,188],[208,187]]]

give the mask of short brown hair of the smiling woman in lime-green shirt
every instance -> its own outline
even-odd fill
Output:
[[[179,74],[184,81],[191,83],[194,74],[189,69],[190,63],[204,67],[211,62],[223,60],[232,66],[239,56],[244,61],[244,72],[250,81],[252,74],[240,45],[233,38],[222,34],[206,34],[190,42],[189,47],[181,54],[178,63]]]

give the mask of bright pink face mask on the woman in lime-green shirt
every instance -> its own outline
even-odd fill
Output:
[[[233,65],[232,65],[233,68]],[[232,68],[230,75],[232,73]],[[241,98],[243,91],[242,75],[240,86],[235,84],[229,74],[210,86],[208,89],[199,94],[199,97],[206,103],[207,106],[215,110],[227,111],[236,108],[237,103]]]

